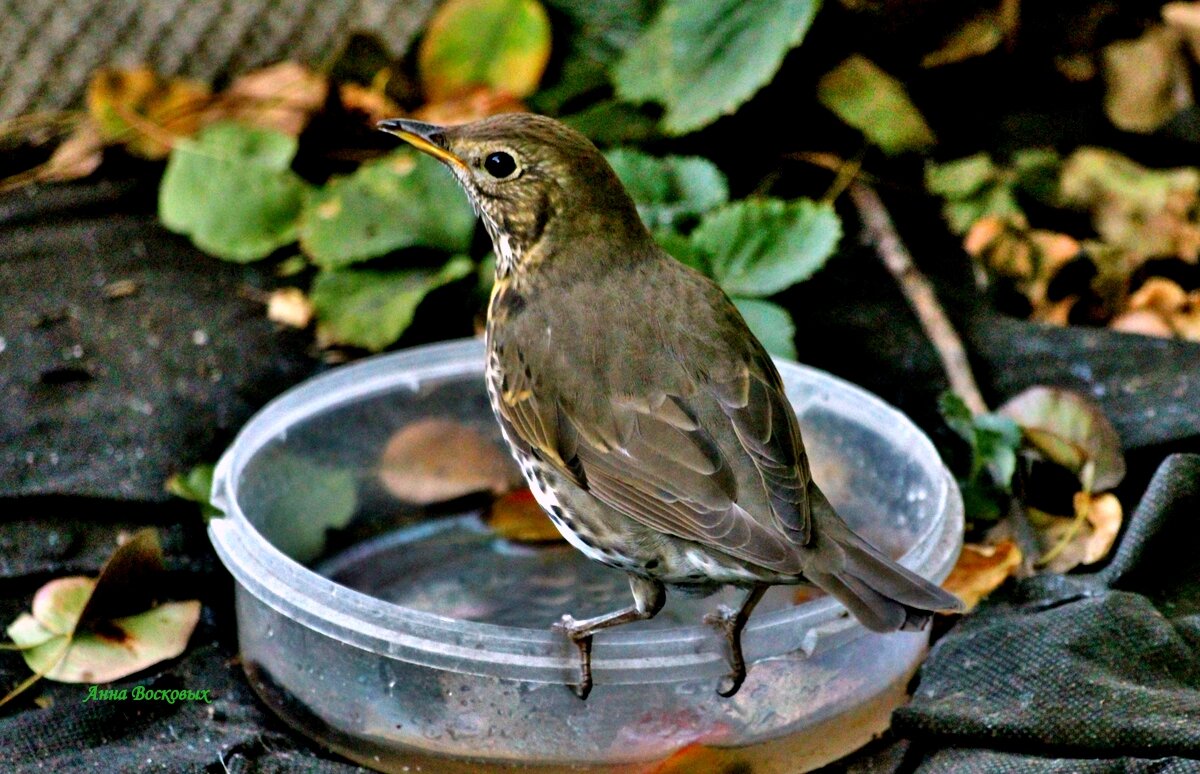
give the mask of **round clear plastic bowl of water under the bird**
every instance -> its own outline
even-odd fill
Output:
[[[942,581],[962,504],[929,439],[857,386],[778,365],[829,499]],[[887,726],[928,632],[869,632],[830,598],[796,604],[794,587],[751,618],[732,698],[716,694],[725,646],[701,617],[734,598],[670,592],[654,620],[596,635],[595,689],[576,698],[575,648],[550,626],[628,604],[624,575],[569,547],[505,546],[470,514],[413,516],[378,484],[383,445],[413,421],[449,418],[500,443],[482,373],[478,340],[337,368],[271,402],[221,458],[210,535],[238,582],[244,666],[287,721],[395,772],[791,774]]]

